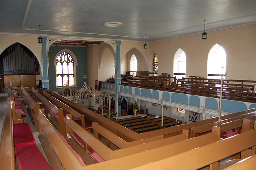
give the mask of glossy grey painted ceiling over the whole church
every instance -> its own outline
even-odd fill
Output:
[[[256,23],[256,0],[0,0],[0,33],[157,41]],[[122,22],[106,27],[105,22]]]

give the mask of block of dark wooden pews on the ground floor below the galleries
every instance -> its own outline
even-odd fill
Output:
[[[157,130],[162,128],[161,122],[162,117],[161,116],[153,116],[153,117],[132,117],[127,119],[120,119],[115,120],[116,123],[119,123],[120,125],[123,125],[124,127],[127,127],[137,133],[142,132],[149,132],[152,130]],[[182,124],[182,121],[177,119],[172,119],[170,117],[164,116],[164,127],[171,127]]]

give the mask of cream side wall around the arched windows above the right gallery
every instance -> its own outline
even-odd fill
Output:
[[[207,77],[207,57],[216,43],[226,51],[227,79],[255,80],[256,68],[256,25],[233,28],[217,32],[208,32],[207,40],[202,35],[153,42],[148,45],[149,53],[158,56],[158,74],[173,74],[173,57],[178,48],[185,51],[187,57],[186,75]],[[152,61],[150,61],[152,62]],[[150,63],[152,64],[152,63]]]

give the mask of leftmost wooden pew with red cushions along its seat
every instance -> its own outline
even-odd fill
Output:
[[[17,169],[52,169],[35,144],[34,136],[28,123],[15,121],[15,103],[8,103],[5,112],[4,126],[1,136],[0,169],[15,169],[15,156]],[[7,135],[7,136],[6,136]]]

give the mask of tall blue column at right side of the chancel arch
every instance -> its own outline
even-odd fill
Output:
[[[118,106],[118,99],[120,99],[118,85],[121,83],[121,55],[120,55],[121,41],[116,41],[116,56],[115,56],[115,87],[116,87],[116,109],[117,116],[121,116],[121,105]],[[120,99],[121,100],[121,99]],[[121,101],[120,101],[121,102]]]

